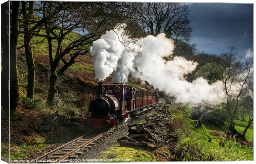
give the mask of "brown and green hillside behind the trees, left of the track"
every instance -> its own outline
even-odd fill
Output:
[[[41,32],[43,33],[43,32]],[[78,34],[72,32],[69,39],[77,37]],[[58,127],[54,131],[48,130],[43,134],[38,131],[45,118],[58,113],[66,118],[83,118],[88,111],[89,95],[94,93],[97,80],[95,79],[92,56],[90,53],[80,55],[64,74],[59,77],[56,88],[57,94],[55,103],[50,109],[46,105],[47,93],[50,79],[50,62],[48,56],[47,39],[34,36],[31,41],[33,57],[35,60],[35,95],[34,100],[26,99],[27,88],[27,66],[26,56],[23,46],[24,35],[20,34],[18,39],[17,67],[19,79],[19,104],[17,110],[11,118],[11,157],[12,159],[33,158],[41,151],[57,147],[59,144],[70,141],[84,133],[84,128],[79,126],[66,126],[57,123]],[[43,42],[42,42],[43,41]],[[39,42],[39,43],[38,43]],[[37,43],[37,44],[33,44]],[[65,40],[66,46],[69,40]],[[53,50],[56,52],[57,41],[53,41]],[[67,57],[65,57],[67,58]],[[59,67],[63,63],[61,62]],[[112,83],[108,77],[104,83]],[[140,84],[134,78],[129,77],[128,85],[152,88],[147,84]],[[7,134],[8,122],[2,119],[2,157],[8,157]],[[33,125],[33,126],[32,126]],[[74,134],[76,132],[76,134]],[[36,143],[36,144],[35,144]],[[54,143],[52,145],[52,143]]]

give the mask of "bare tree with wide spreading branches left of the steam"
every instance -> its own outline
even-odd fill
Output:
[[[49,59],[51,66],[50,88],[47,104],[52,106],[55,97],[56,81],[66,69],[78,62],[78,55],[89,52],[90,45],[99,39],[107,30],[118,23],[123,23],[127,15],[125,3],[113,2],[47,2],[44,3],[44,15],[52,12],[52,6],[62,5],[62,10],[56,17],[45,22],[45,30],[49,44]],[[71,34],[73,38],[71,38]],[[74,36],[76,36],[74,38]],[[57,50],[53,56],[52,40],[57,38]],[[64,41],[68,43],[64,44]],[[59,67],[60,62],[63,63]]]

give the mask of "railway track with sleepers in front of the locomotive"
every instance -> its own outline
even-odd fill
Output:
[[[84,134],[64,145],[47,152],[46,154],[33,159],[30,163],[59,163],[70,162],[71,159],[78,158],[79,155],[88,151],[100,141],[106,139],[114,132],[119,131],[126,125],[118,125],[104,132],[96,132],[95,130]]]

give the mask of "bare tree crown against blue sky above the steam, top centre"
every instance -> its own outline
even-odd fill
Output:
[[[164,32],[167,37],[188,41],[191,38],[192,26],[188,15],[190,10],[181,3],[140,2],[133,3],[138,24],[145,36],[158,35]]]

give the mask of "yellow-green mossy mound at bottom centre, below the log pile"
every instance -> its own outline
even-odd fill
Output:
[[[154,155],[149,155],[140,148],[127,148],[114,146],[101,153],[103,159],[116,159],[116,162],[152,162]],[[119,160],[119,161],[118,161]]]

